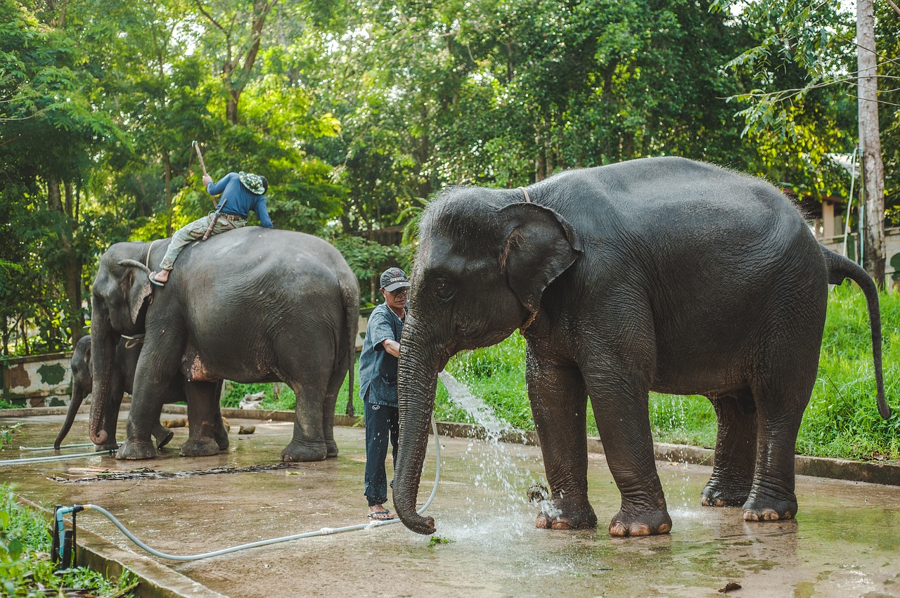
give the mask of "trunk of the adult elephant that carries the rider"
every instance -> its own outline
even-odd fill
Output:
[[[109,315],[100,305],[102,299],[94,296],[94,310],[91,314],[91,373],[94,385],[91,389],[91,415],[89,432],[91,442],[105,444],[110,440],[103,430],[103,415],[110,401],[112,369],[115,361],[115,345],[119,342],[110,325]]]

